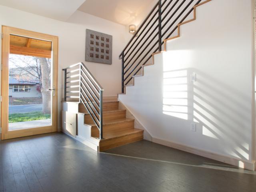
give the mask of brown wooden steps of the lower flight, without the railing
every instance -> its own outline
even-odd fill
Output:
[[[80,103],[78,111],[84,114],[84,124],[91,129],[91,137],[99,142],[99,151],[128,144],[143,139],[143,130],[134,128],[134,119],[126,118],[126,110],[118,108],[117,98],[103,98],[103,139],[100,132]]]

